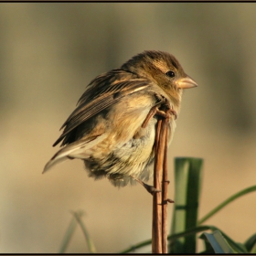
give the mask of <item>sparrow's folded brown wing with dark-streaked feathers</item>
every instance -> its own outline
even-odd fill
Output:
[[[122,69],[113,69],[98,76],[91,81],[87,91],[80,97],[77,108],[61,126],[60,129],[65,127],[64,131],[53,146],[59,144],[65,136],[69,135],[81,123],[84,123],[124,96],[143,90],[150,83],[149,80],[138,79],[133,73]],[[61,145],[63,144],[66,144],[65,140]]]

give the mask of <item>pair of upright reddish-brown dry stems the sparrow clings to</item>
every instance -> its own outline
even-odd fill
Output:
[[[167,202],[172,202],[167,198],[167,138],[170,113],[174,112],[171,108],[165,112],[155,110],[155,114],[160,112],[155,132],[154,187],[157,192],[153,195],[152,253],[167,253]]]

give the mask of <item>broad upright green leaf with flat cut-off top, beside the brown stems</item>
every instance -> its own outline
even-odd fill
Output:
[[[175,208],[171,234],[197,226],[197,213],[201,191],[203,160],[201,158],[177,157],[175,159]],[[170,243],[171,253],[195,253],[196,235]]]

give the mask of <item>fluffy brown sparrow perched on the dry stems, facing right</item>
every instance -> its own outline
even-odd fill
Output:
[[[197,83],[178,60],[163,51],[146,50],[91,80],[76,109],[61,126],[53,146],[59,151],[43,173],[61,160],[81,159],[89,176],[107,177],[116,187],[146,182],[153,175],[157,114],[168,105],[168,145],[176,128],[184,89]],[[145,122],[146,120],[146,122]]]

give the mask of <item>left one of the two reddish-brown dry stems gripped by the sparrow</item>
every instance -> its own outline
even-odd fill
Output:
[[[157,190],[161,188],[161,180],[158,170],[161,166],[161,158],[159,154],[159,139],[162,126],[162,119],[157,122],[155,132],[155,163],[154,163],[154,187]],[[160,166],[159,166],[160,164]],[[153,195],[153,219],[152,219],[152,253],[162,253],[162,206],[161,206],[161,192],[155,192]]]

